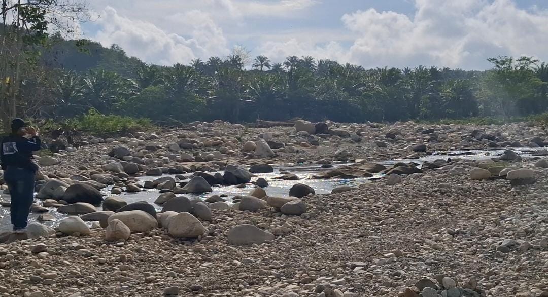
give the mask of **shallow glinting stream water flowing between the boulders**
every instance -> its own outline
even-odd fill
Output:
[[[522,155],[522,156],[529,156],[531,153],[533,153],[536,150],[541,150],[545,148],[523,148],[523,149],[513,149],[516,153]],[[461,154],[464,152],[472,152],[472,155],[447,155],[447,154]],[[444,152],[437,152],[435,154],[432,154],[430,156],[424,156],[419,159],[394,159],[394,160],[387,160],[378,162],[379,164],[383,165],[393,165],[396,162],[415,162],[416,164],[422,164],[425,161],[433,161],[436,159],[445,159],[448,158],[462,158],[462,159],[470,159],[470,160],[478,160],[478,159],[488,159],[488,158],[495,158],[498,155],[501,155],[504,152],[504,150],[452,150],[452,151],[444,151]],[[344,165],[344,164],[334,164],[334,167]],[[292,185],[296,183],[303,183],[306,185],[309,185],[313,189],[315,189],[317,194],[325,194],[330,193],[331,190],[335,187],[339,187],[340,185],[350,185],[350,186],[356,186],[361,183],[367,182],[369,178],[356,178],[356,179],[307,179],[312,174],[317,173],[319,171],[323,170],[331,170],[333,168],[321,168],[319,165],[309,165],[309,164],[303,164],[303,165],[275,165],[273,166],[275,168],[275,172],[273,173],[262,173],[262,174],[255,174],[256,177],[252,180],[256,180],[257,178],[265,178],[269,182],[269,187],[265,188],[266,193],[268,195],[272,196],[288,196],[289,195],[289,188],[292,187]],[[300,180],[279,180],[279,179],[273,179],[274,177],[278,177],[281,174],[279,174],[280,171],[288,171],[290,173],[295,174],[300,178]],[[221,172],[222,174],[222,172]],[[165,177],[165,175],[163,176]],[[175,178],[175,176],[171,176]],[[376,175],[375,177],[380,177],[380,175]],[[141,182],[145,182],[146,180],[155,180],[158,177],[140,177],[139,180]],[[207,197],[217,194],[226,194],[227,197],[225,199],[230,202],[233,196],[236,195],[246,195],[254,188],[252,184],[246,185],[246,188],[236,188],[235,186],[228,186],[228,187],[220,187],[220,188],[213,188],[212,193],[204,193],[204,194],[185,194],[185,196],[191,198],[201,198],[206,199]],[[106,196],[110,195],[110,187],[105,188],[103,191],[103,194]],[[153,202],[156,200],[156,198],[159,195],[159,190],[156,189],[148,189],[146,191],[141,191],[138,193],[123,193],[121,196],[125,201],[128,203],[137,202],[141,200],[148,201],[152,205],[154,205],[157,209],[157,211],[160,211],[162,209],[162,206],[155,205]],[[9,195],[0,194],[0,201],[9,201]],[[41,201],[36,201],[38,205],[41,205]],[[66,214],[60,214],[56,212],[56,209],[54,207],[49,208],[48,214],[52,214],[56,220],[53,222],[43,222],[43,224],[46,225],[56,225],[57,222],[59,222],[60,219],[65,218]],[[98,210],[102,210],[101,207],[98,207]],[[36,222],[36,218],[39,216],[39,214],[31,213],[28,221]],[[0,207],[0,231],[10,230],[12,226],[10,225],[9,220],[9,207]]]

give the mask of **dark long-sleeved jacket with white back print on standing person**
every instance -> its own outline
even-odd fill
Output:
[[[37,171],[38,165],[33,161],[32,152],[40,149],[40,138],[38,136],[31,139],[18,135],[10,135],[2,139],[0,145],[0,163],[2,170],[8,166],[25,168],[31,171]]]

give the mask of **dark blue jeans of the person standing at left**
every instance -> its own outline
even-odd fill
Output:
[[[4,171],[4,180],[8,184],[9,194],[12,196],[10,216],[13,228],[25,228],[34,200],[35,172],[8,166]]]

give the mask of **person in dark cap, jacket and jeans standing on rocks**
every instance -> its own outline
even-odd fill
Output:
[[[40,143],[38,131],[29,122],[17,118],[12,121],[12,133],[2,139],[0,145],[0,162],[12,196],[10,217],[16,233],[26,232],[38,170],[32,152],[40,149]]]

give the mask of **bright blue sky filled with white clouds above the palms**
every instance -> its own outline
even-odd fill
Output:
[[[545,0],[91,0],[84,38],[159,65],[312,56],[371,67],[487,69],[489,57],[548,61]]]

